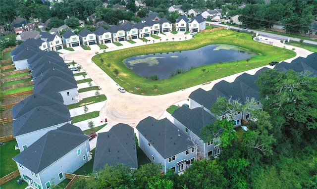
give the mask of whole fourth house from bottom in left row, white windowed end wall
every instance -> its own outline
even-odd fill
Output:
[[[62,95],[65,105],[76,103],[79,98],[77,83],[56,76],[38,84],[33,88],[33,91],[37,94],[58,92]]]

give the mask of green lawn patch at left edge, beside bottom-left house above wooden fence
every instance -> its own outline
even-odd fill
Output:
[[[14,156],[20,153],[20,150],[14,149],[15,144],[17,144],[16,141],[6,141],[4,145],[0,145],[0,177],[4,177],[18,169],[15,161],[12,160]]]

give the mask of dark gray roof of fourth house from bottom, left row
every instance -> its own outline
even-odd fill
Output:
[[[34,93],[61,92],[77,88],[77,83],[53,76],[33,88]]]

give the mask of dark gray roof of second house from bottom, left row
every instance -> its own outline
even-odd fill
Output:
[[[61,105],[38,106],[13,120],[13,136],[20,136],[71,121],[69,110]]]

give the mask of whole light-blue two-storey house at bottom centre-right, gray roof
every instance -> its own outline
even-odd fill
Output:
[[[168,119],[147,117],[136,127],[139,146],[153,163],[180,173],[197,159],[197,146]]]

